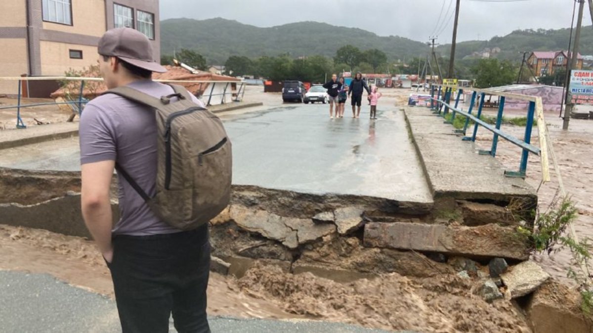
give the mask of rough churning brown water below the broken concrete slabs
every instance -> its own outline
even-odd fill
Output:
[[[530,332],[511,302],[492,304],[473,294],[473,281],[454,275],[415,278],[392,273],[337,283],[310,273],[255,265],[238,280],[243,292],[281,309],[327,321],[422,332]]]

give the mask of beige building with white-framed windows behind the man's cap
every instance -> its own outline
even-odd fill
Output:
[[[160,59],[158,0],[2,0],[0,76],[63,76],[97,62],[97,42],[116,27],[152,40]],[[0,94],[17,82],[0,81]]]

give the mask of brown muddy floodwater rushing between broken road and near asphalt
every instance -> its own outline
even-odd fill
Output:
[[[49,273],[113,297],[93,242],[46,230],[0,225],[0,269]],[[213,273],[208,310],[245,318],[298,318],[422,332],[528,332],[511,302],[474,296],[473,280],[452,274],[407,278],[396,273],[337,283],[311,273],[256,264],[239,280]]]

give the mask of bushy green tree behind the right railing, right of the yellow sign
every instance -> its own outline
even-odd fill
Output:
[[[517,79],[517,69],[509,60],[480,59],[472,72],[476,75],[476,88],[508,85]]]

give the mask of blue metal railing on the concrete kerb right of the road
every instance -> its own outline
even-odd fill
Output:
[[[443,89],[444,88],[444,89]],[[454,92],[454,89],[457,89],[457,97],[455,98],[455,104],[451,105],[451,97]],[[498,148],[498,140],[502,137],[505,140],[513,143],[514,145],[519,146],[522,149],[521,153],[521,162],[519,164],[519,171],[505,171],[505,175],[508,177],[521,177],[525,178],[525,172],[527,171],[527,159],[529,157],[529,153],[534,153],[535,155],[540,155],[540,148],[537,146],[531,145],[531,130],[533,129],[534,124],[534,116],[535,116],[535,107],[537,104],[537,98],[540,97],[532,97],[527,95],[517,95],[517,94],[508,94],[505,92],[494,92],[488,91],[487,89],[474,89],[474,88],[460,88],[460,87],[443,87],[441,85],[432,85],[431,86],[431,109],[433,113],[438,114],[439,116],[447,116],[449,110],[452,111],[451,119],[445,121],[445,123],[452,124],[455,120],[455,116],[460,115],[466,117],[466,121],[464,123],[463,129],[455,130],[456,133],[460,133],[463,135],[462,140],[467,141],[476,141],[476,135],[478,131],[478,127],[482,126],[485,129],[489,130],[493,133],[492,137],[492,146],[490,147],[489,151],[479,151],[481,155],[492,155],[493,157],[496,156],[496,149]],[[470,105],[468,107],[467,112],[458,108],[460,95],[464,93],[464,89],[467,91],[471,91],[471,99]],[[436,97],[435,97],[436,94]],[[478,97],[479,94],[479,97]],[[499,96],[499,103],[498,103],[498,113],[496,114],[496,123],[494,126],[491,124],[486,123],[482,120],[482,109],[484,108],[484,98],[488,95],[498,95]],[[528,108],[527,108],[527,124],[525,126],[525,135],[523,139],[519,139],[509,133],[503,132],[500,130],[500,126],[502,125],[503,113],[505,108],[505,100],[506,98],[514,98],[519,100],[526,100],[528,101]],[[479,103],[477,105],[477,114],[474,116],[472,114],[473,108],[476,105],[476,99],[479,98]],[[541,103],[540,103],[541,105]],[[473,133],[471,136],[466,136],[467,129],[470,124],[470,120],[474,122]]]

